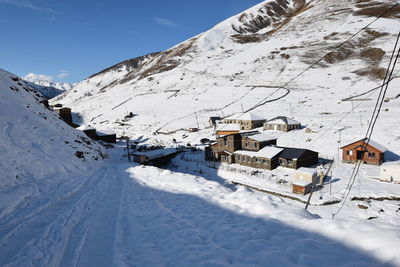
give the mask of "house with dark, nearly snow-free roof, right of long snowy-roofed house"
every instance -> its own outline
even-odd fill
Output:
[[[282,147],[283,151],[279,154],[279,166],[298,169],[309,167],[318,163],[318,152],[293,147]]]

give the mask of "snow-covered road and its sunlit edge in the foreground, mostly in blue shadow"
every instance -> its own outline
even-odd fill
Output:
[[[0,266],[382,265],[276,219],[286,213],[299,224],[320,220],[200,176],[113,163],[3,216]]]

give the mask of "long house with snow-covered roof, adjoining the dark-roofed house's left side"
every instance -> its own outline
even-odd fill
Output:
[[[267,146],[260,151],[238,150],[234,153],[235,163],[259,169],[273,170],[279,166],[282,148]]]

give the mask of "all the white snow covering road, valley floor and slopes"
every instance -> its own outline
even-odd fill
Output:
[[[269,2],[246,11],[248,18],[262,15]],[[354,165],[341,162],[339,148],[368,129],[379,94],[364,93],[381,80],[356,71],[386,67],[399,21],[379,19],[369,29],[388,34],[372,40],[362,32],[350,56],[322,61],[280,88],[374,19],[355,15],[355,9],[345,0],[317,0],[262,42],[249,43],[231,36],[232,25],[247,22],[240,23],[239,14],[171,48],[169,55],[177,56],[147,56],[134,71],[120,66],[94,75],[52,100],[79,113],[83,125],[167,146],[197,144],[213,136],[211,116],[225,118],[270,101],[252,112],[263,118],[294,114],[312,129],[277,132],[279,146],[304,147],[334,160],[309,211],[308,195],[291,192],[295,170],[256,173],[237,164],[214,169],[206,166],[201,148],[178,155],[164,169],[127,163],[125,143],[96,162],[96,149],[103,148],[85,145],[83,133],[0,71],[0,152],[6,155],[0,162],[0,265],[400,266],[400,185],[368,178],[379,174],[379,166],[360,167],[334,218],[340,204],[320,206],[344,197]],[[175,50],[189,43],[187,51]],[[385,52],[381,61],[360,56],[370,47]],[[165,66],[163,57],[177,66],[139,78]],[[395,160],[399,85],[396,76],[372,136]],[[126,118],[129,112],[137,116]],[[197,125],[198,132],[185,130]],[[74,156],[77,151],[84,160]]]

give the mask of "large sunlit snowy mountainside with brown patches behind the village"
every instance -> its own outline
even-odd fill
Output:
[[[74,107],[86,123],[131,136],[169,133],[154,137],[165,141],[182,140],[185,130],[197,126],[202,131],[185,140],[211,135],[206,128],[210,116],[243,110],[267,119],[287,115],[320,134],[332,129],[324,138],[314,137],[315,142],[282,137],[282,144],[336,149],[336,130],[346,126],[342,138],[352,140],[368,126],[376,90],[359,98],[365,101],[343,100],[381,84],[400,27],[400,9],[394,4],[264,1],[167,51],[101,71],[54,102]],[[399,115],[399,83],[396,73],[388,93],[393,100],[385,103],[391,112],[377,125],[386,145],[399,138],[389,126]],[[127,120],[129,112],[138,116]]]

